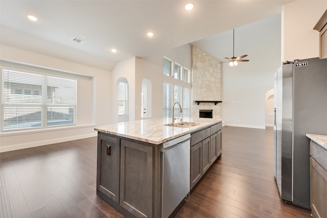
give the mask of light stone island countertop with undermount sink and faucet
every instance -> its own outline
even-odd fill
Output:
[[[175,123],[180,120],[176,119]],[[96,127],[95,130],[111,135],[122,136],[138,141],[149,142],[152,144],[161,144],[165,141],[177,138],[179,136],[203,129],[220,123],[221,119],[211,118],[183,118],[183,122],[195,122],[199,125],[194,127],[169,127],[164,124],[172,123],[172,119],[155,118],[141,119],[118,124],[111,124],[102,127]]]

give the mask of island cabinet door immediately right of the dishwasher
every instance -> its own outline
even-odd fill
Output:
[[[202,176],[202,142],[191,148],[191,189],[201,179]]]

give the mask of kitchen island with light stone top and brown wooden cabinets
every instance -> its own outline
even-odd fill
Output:
[[[184,186],[188,183],[190,192],[221,155],[221,120],[184,121],[192,125],[166,126],[169,120],[158,118],[95,128],[98,131],[97,195],[127,217],[167,217],[175,206],[170,206],[169,212],[162,209],[167,208],[165,193],[170,191],[164,184],[173,182]],[[180,138],[183,139],[181,144],[190,145],[186,146],[188,156],[172,157],[180,161],[172,169],[187,164],[188,168],[180,174],[186,173],[188,178],[180,181],[177,175],[165,178],[167,183],[163,179],[167,171],[167,167],[164,170],[164,148]]]

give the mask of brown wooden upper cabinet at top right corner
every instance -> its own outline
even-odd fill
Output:
[[[313,29],[319,32],[319,57],[327,58],[327,10]]]

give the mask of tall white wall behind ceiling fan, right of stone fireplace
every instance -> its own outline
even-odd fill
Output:
[[[222,64],[222,119],[228,126],[264,129],[265,95],[281,64],[281,17],[237,28],[235,44],[235,55],[247,54],[250,61],[233,67]]]

